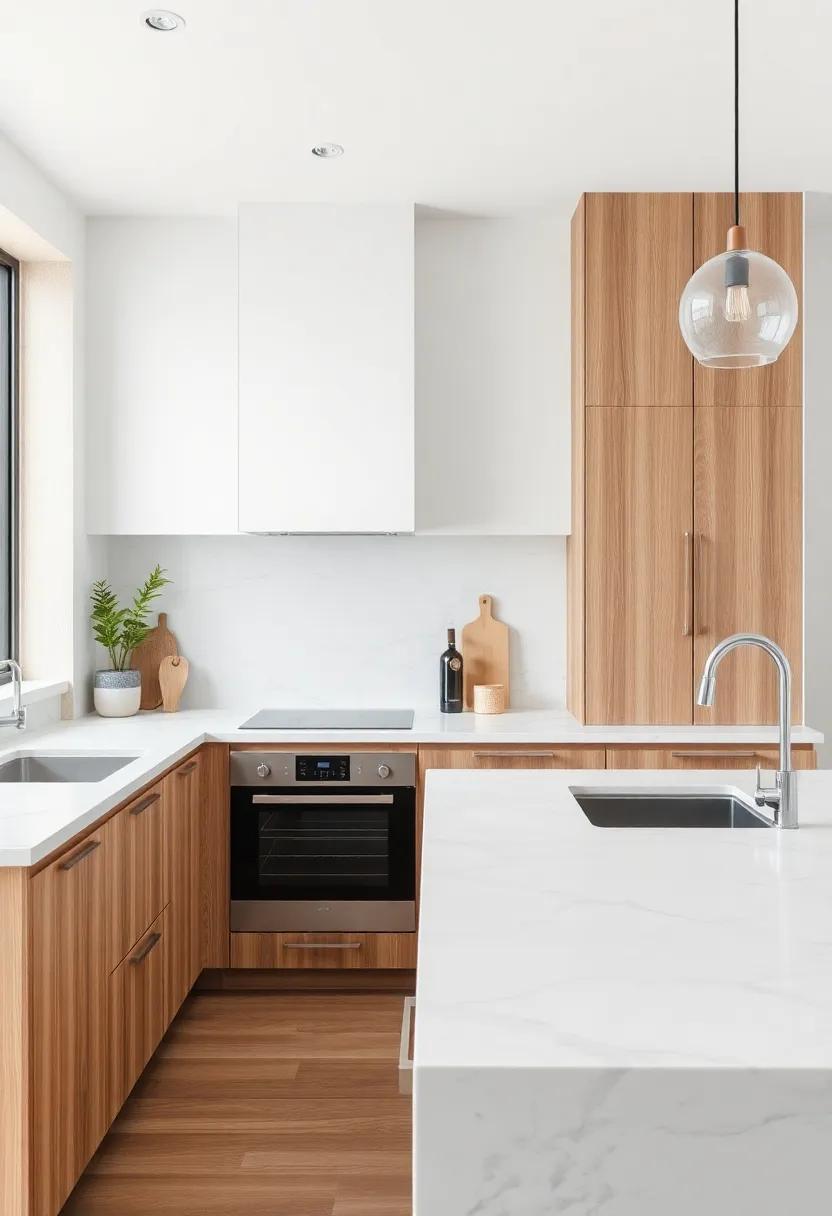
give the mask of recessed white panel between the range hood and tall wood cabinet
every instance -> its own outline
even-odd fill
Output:
[[[569,531],[573,208],[418,212],[418,531]]]

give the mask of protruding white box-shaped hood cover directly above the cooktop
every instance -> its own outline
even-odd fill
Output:
[[[240,530],[415,525],[414,208],[240,208]]]

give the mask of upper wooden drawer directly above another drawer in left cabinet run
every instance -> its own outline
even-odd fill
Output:
[[[165,905],[164,786],[153,786],[113,817],[109,970],[118,966]]]

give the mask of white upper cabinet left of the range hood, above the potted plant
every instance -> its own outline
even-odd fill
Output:
[[[237,530],[236,227],[88,223],[90,533]]]

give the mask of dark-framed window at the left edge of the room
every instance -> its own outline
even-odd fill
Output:
[[[0,658],[17,658],[19,266],[0,249]]]

